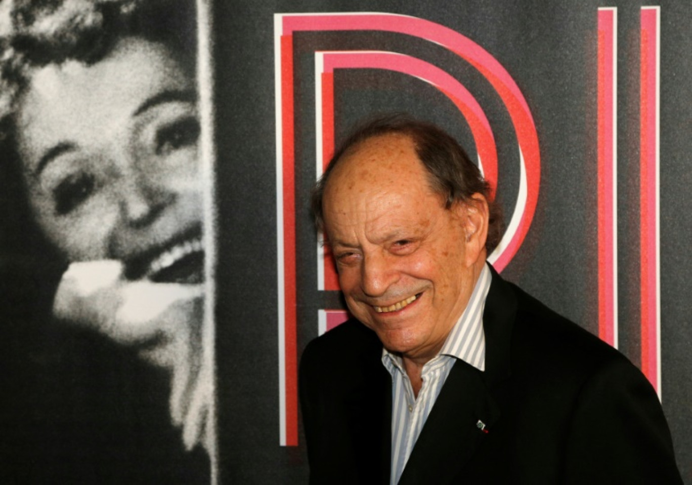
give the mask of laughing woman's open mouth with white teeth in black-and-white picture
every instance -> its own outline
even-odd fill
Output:
[[[126,266],[127,279],[156,283],[198,284],[204,281],[204,245],[199,233],[148,252]]]

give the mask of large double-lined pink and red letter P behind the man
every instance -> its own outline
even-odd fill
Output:
[[[439,44],[457,54],[490,82],[502,99],[516,131],[520,155],[519,193],[498,249],[489,261],[498,271],[507,266],[522,244],[536,210],[540,182],[538,134],[524,96],[509,73],[481,46],[432,21],[387,13],[324,13],[275,15],[275,97],[277,146],[277,255],[280,356],[280,443],[298,443],[293,34],[296,32],[378,30],[400,33]],[[334,69],[389,69],[430,83],[444,92],[466,118],[477,145],[480,166],[493,184],[498,161],[490,125],[475,98],[455,78],[428,62],[400,53],[337,51],[316,53],[317,175],[334,148]],[[326,265],[327,268],[330,265]],[[336,290],[336,275],[320,267],[320,289]]]

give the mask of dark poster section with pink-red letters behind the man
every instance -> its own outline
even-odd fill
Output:
[[[265,1],[214,7],[220,479],[301,484],[297,365],[343,319],[308,198],[335,143],[408,112],[477,159],[502,275],[617,346],[692,484],[692,7]]]

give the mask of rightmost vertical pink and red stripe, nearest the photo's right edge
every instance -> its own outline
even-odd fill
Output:
[[[658,294],[658,26],[659,8],[641,9],[640,240],[641,370],[660,395]]]

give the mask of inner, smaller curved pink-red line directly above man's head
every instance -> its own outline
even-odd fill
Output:
[[[485,179],[493,192],[498,184],[498,150],[493,131],[483,109],[473,95],[439,67],[410,55],[383,51],[338,51],[322,53],[324,69],[388,69],[408,74],[437,87],[459,108],[471,127]]]

